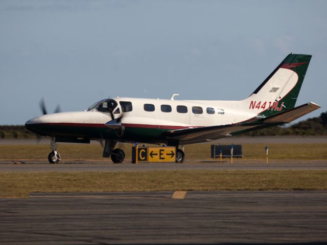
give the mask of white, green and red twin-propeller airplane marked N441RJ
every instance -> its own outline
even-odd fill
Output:
[[[56,112],[32,118],[26,128],[51,137],[50,163],[58,163],[56,142],[90,143],[98,140],[103,157],[113,163],[125,159],[116,143],[143,142],[176,147],[176,162],[182,163],[181,144],[211,142],[243,132],[283,125],[320,108],[309,102],[295,107],[311,55],[289,54],[246,99],[175,100],[109,98],[82,112]]]

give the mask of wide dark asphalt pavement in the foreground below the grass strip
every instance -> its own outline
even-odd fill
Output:
[[[32,194],[0,199],[0,244],[327,241],[327,192]]]

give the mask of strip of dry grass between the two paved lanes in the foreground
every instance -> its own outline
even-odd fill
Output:
[[[0,173],[0,196],[31,192],[327,190],[327,171],[150,171]]]

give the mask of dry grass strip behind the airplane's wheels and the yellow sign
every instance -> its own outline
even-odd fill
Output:
[[[210,159],[211,144],[185,146],[186,160]],[[131,144],[118,144],[131,160]],[[265,160],[265,144],[243,144],[244,160]],[[327,144],[270,144],[269,160],[327,160]],[[104,160],[100,145],[58,144],[62,160]],[[4,160],[46,160],[49,145],[0,145],[0,159]],[[46,160],[47,161],[47,160]],[[110,160],[109,160],[110,161]]]

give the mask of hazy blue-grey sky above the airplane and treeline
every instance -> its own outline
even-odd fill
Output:
[[[108,97],[239,100],[291,52],[326,111],[327,1],[0,2],[0,124]],[[176,98],[176,99],[177,99]],[[302,119],[303,119],[302,118]]]

